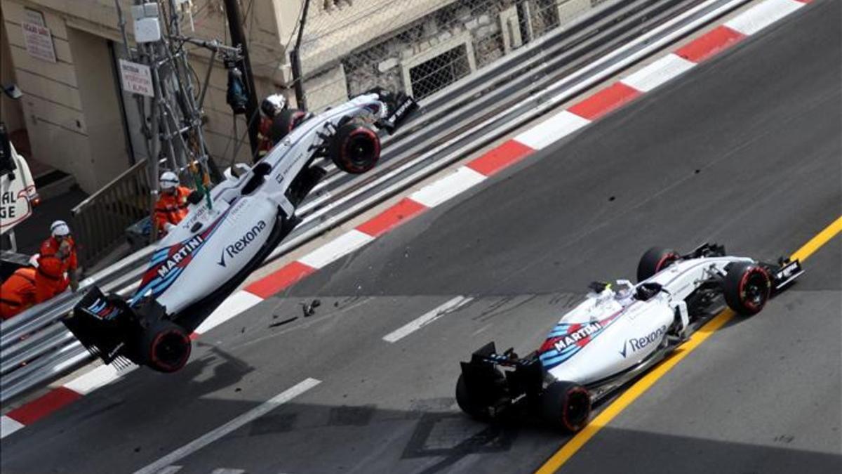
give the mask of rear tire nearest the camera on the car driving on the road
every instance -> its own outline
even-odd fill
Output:
[[[541,415],[554,428],[577,433],[590,419],[590,394],[582,385],[555,381],[541,394]]]

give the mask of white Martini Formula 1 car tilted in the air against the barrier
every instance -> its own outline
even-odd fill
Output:
[[[352,174],[370,170],[381,152],[377,131],[392,132],[416,108],[406,95],[376,89],[317,116],[281,112],[269,154],[226,171],[210,197],[191,196],[188,215],[157,243],[131,299],[93,288],[65,325],[106,364],[128,359],[162,372],[181,369],[189,330],[298,223],[296,207],[325,175],[314,160],[329,157]]]

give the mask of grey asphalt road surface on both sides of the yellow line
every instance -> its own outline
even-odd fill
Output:
[[[651,245],[713,240],[774,259],[842,215],[840,5],[802,8],[210,331],[179,374],[136,370],[3,439],[0,468],[534,471],[567,438],[535,420],[461,415],[457,362],[489,340],[529,352],[589,282],[633,276]],[[794,288],[717,331],[565,470],[838,472],[840,261],[837,237]],[[456,310],[383,339],[448,302]],[[264,405],[310,379],[320,383]],[[262,416],[213,431],[248,413]]]

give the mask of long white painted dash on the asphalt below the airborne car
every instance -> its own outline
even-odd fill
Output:
[[[189,455],[192,455],[193,453],[195,453],[198,450],[201,450],[208,444],[215,442],[217,439],[221,439],[226,434],[229,434],[232,431],[242,428],[246,424],[251,423],[259,417],[264,416],[266,413],[271,412],[275,408],[280,407],[287,401],[292,400],[296,396],[301,395],[302,393],[312,389],[320,383],[321,382],[316,379],[303,380],[298,385],[293,386],[289,390],[281,392],[280,394],[272,397],[269,401],[265,401],[260,406],[243,413],[239,417],[232,419],[230,422],[223,424],[221,427],[215,428],[203,434],[199,438],[190,441],[188,444],[184,444],[184,446],[180,447],[178,450],[174,450],[173,452],[163,456],[163,458],[153,462],[152,464],[135,471],[135,474],[154,474],[157,471],[163,469],[163,467],[169,466],[175,461],[179,461]]]

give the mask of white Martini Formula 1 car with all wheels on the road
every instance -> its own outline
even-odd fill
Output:
[[[650,249],[637,267],[639,283],[591,283],[584,302],[562,316],[537,351],[519,358],[489,342],[473,353],[461,363],[456,401],[477,419],[526,407],[577,432],[594,403],[663,360],[722,299],[734,312],[754,315],[801,274],[797,260],[727,256],[722,245],[686,255]]]

